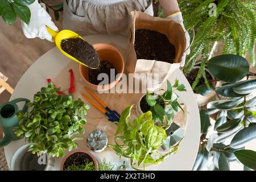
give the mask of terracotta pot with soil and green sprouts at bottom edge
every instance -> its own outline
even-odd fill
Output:
[[[98,171],[96,158],[86,150],[69,152],[62,160],[61,171]]]

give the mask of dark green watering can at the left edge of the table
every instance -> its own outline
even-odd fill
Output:
[[[14,127],[19,126],[18,116],[16,115],[19,110],[17,103],[26,102],[22,111],[26,112],[27,110],[27,100],[26,98],[16,98],[13,101],[5,102],[0,106],[0,127],[3,129],[5,137],[0,140],[0,148],[6,146],[13,140],[19,140],[19,137],[16,137],[14,134]]]

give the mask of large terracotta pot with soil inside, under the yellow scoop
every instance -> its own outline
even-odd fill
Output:
[[[94,49],[100,59],[96,69],[90,69],[79,64],[79,73],[82,80],[93,90],[106,91],[112,89],[121,79],[125,69],[123,57],[118,49],[109,44],[94,44]],[[105,73],[104,80],[98,80],[98,75]],[[102,75],[104,76],[104,75]]]

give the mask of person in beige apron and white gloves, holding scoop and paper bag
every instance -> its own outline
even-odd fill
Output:
[[[177,0],[159,0],[159,2],[167,18],[180,23],[185,31]],[[29,24],[22,22],[24,35],[27,38],[39,37],[53,42],[46,29],[48,26],[58,31],[51,16],[39,5],[38,0],[28,7],[31,11],[31,19]],[[63,27],[82,36],[91,34],[126,35],[129,12],[133,10],[153,15],[152,0],[64,0]],[[187,31],[185,32],[188,48],[189,34]],[[187,54],[189,54],[189,48],[183,55],[181,66],[184,65]]]

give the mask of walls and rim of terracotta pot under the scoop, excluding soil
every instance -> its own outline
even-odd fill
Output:
[[[89,68],[85,67],[82,64],[79,64],[79,73],[84,82],[93,90],[98,91],[105,91],[112,89],[120,80],[123,74],[123,70],[125,69],[125,62],[123,61],[123,56],[118,51],[118,49],[114,48],[113,46],[110,46],[109,44],[94,44],[94,49],[96,49],[96,52],[98,53],[98,56],[100,57],[100,60],[108,60],[110,63],[112,63],[118,73],[119,76],[115,79],[115,81],[111,82],[108,85],[94,85],[89,82]]]

